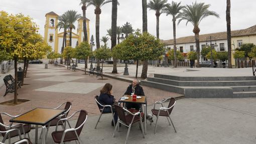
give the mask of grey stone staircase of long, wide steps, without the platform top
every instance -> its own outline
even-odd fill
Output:
[[[256,97],[256,77],[181,77],[154,74],[141,84],[192,98]]]

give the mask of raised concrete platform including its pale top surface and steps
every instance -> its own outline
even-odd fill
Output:
[[[142,85],[184,94],[185,97],[256,97],[256,77],[251,68],[199,68],[170,74],[154,74]]]

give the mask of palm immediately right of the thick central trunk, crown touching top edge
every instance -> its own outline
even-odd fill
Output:
[[[148,4],[148,8],[150,10],[156,11],[157,17],[157,38],[159,39],[159,17],[163,13],[163,9],[165,8],[167,0],[152,0]]]

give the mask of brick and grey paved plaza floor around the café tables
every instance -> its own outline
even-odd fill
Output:
[[[168,69],[172,70],[172,68]],[[243,70],[246,73],[246,70]],[[174,71],[185,71],[185,69],[174,69]],[[79,109],[85,109],[89,113],[80,135],[83,143],[124,143],[127,128],[121,126],[120,132],[116,132],[116,136],[112,137],[114,128],[110,124],[110,114],[102,115],[97,128],[94,129],[99,117],[94,96],[99,94],[99,90],[105,83],[111,83],[113,95],[119,99],[130,83],[112,78],[100,80],[95,75],[89,76],[83,73],[83,71],[74,72],[51,64],[48,65],[48,69],[44,69],[44,65],[30,65],[25,85],[18,90],[18,98],[30,101],[16,106],[0,105],[0,109],[16,115],[35,107],[56,107],[65,101],[71,101],[72,108],[69,115]],[[143,88],[148,99],[149,113],[151,113],[155,101],[181,96],[151,87],[144,86]],[[4,92],[5,86],[2,86],[0,93],[4,94]],[[9,93],[5,97],[1,96],[0,102],[11,99],[13,99],[13,93]],[[172,125],[169,125],[165,117],[160,117],[157,133],[154,134],[156,122],[156,117],[154,117],[152,125],[148,121],[145,138],[142,138],[139,125],[133,125],[128,143],[255,143],[255,103],[256,98],[178,99],[171,114],[177,133],[174,132]],[[167,105],[168,102],[164,103],[164,106]],[[72,126],[75,125],[76,118],[72,119]],[[8,119],[9,117],[4,117],[5,122],[8,122]],[[50,133],[54,128],[50,128],[47,143],[53,141]],[[35,129],[30,132],[30,135],[34,142]]]

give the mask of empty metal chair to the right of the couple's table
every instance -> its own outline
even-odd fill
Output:
[[[169,102],[168,107],[166,108],[166,107],[164,107],[163,102],[165,102],[165,101],[167,101],[167,100],[170,100],[170,102]],[[160,104],[162,105],[162,107],[160,107],[159,109],[155,109],[155,106],[156,106],[157,103],[160,103]],[[171,123],[170,123],[170,121],[169,121],[169,119],[168,119],[168,117],[169,117],[170,120],[171,120],[171,122],[172,122],[174,131],[177,132],[176,129],[175,129],[175,127],[174,127],[173,121],[172,121],[172,119],[171,119],[171,117],[170,117],[170,114],[171,114],[171,112],[172,112],[172,110],[173,110],[173,107],[174,107],[175,103],[176,103],[176,100],[175,100],[175,98],[173,98],[173,97],[172,97],[172,98],[165,99],[164,101],[157,101],[157,102],[155,102],[155,104],[154,104],[154,109],[152,109],[151,111],[152,111],[152,114],[153,114],[153,115],[156,115],[156,116],[157,116],[157,121],[158,121],[158,117],[159,117],[159,116],[166,116],[166,117],[167,117],[167,120],[168,120],[168,122],[169,122],[169,124],[171,125]],[[156,133],[157,121],[156,121],[156,126],[155,126],[155,132],[154,132],[154,133]],[[151,123],[150,123],[150,124],[151,124]]]

